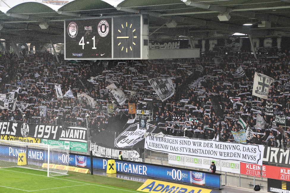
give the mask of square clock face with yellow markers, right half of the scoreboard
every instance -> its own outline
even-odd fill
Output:
[[[140,58],[140,16],[114,17],[113,23],[114,58]]]

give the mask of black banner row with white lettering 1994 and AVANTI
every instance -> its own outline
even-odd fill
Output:
[[[7,121],[0,122],[0,135],[87,143],[87,129],[83,127],[69,126],[63,130],[60,125]]]

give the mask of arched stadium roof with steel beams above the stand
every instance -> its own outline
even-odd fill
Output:
[[[61,43],[64,19],[132,14],[149,14],[150,40],[248,37],[234,33],[252,37],[290,34],[290,0],[74,0],[63,6],[26,1],[0,7],[1,39]],[[166,24],[172,21],[176,27],[168,28]],[[40,23],[48,28],[41,29]]]

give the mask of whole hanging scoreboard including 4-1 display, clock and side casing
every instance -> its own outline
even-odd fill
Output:
[[[64,20],[66,60],[148,59],[148,39],[148,15]]]

